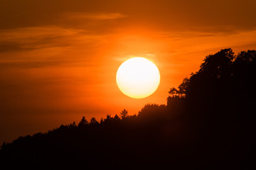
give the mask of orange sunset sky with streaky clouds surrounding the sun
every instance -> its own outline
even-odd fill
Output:
[[[256,49],[256,1],[0,0],[0,142],[124,108],[166,104],[206,55]],[[115,75],[130,57],[159,68],[134,99]]]

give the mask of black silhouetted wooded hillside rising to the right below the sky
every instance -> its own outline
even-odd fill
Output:
[[[256,51],[208,55],[166,106],[19,137],[1,169],[256,169]]]

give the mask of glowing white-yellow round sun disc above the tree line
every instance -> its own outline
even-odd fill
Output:
[[[131,98],[145,98],[154,94],[160,83],[156,65],[143,57],[123,62],[117,70],[117,86]]]

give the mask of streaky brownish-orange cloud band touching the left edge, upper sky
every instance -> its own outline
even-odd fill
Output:
[[[50,27],[2,30],[0,32],[0,52],[65,47],[70,45],[67,39],[78,32],[78,30]],[[63,41],[63,38],[66,40]]]

